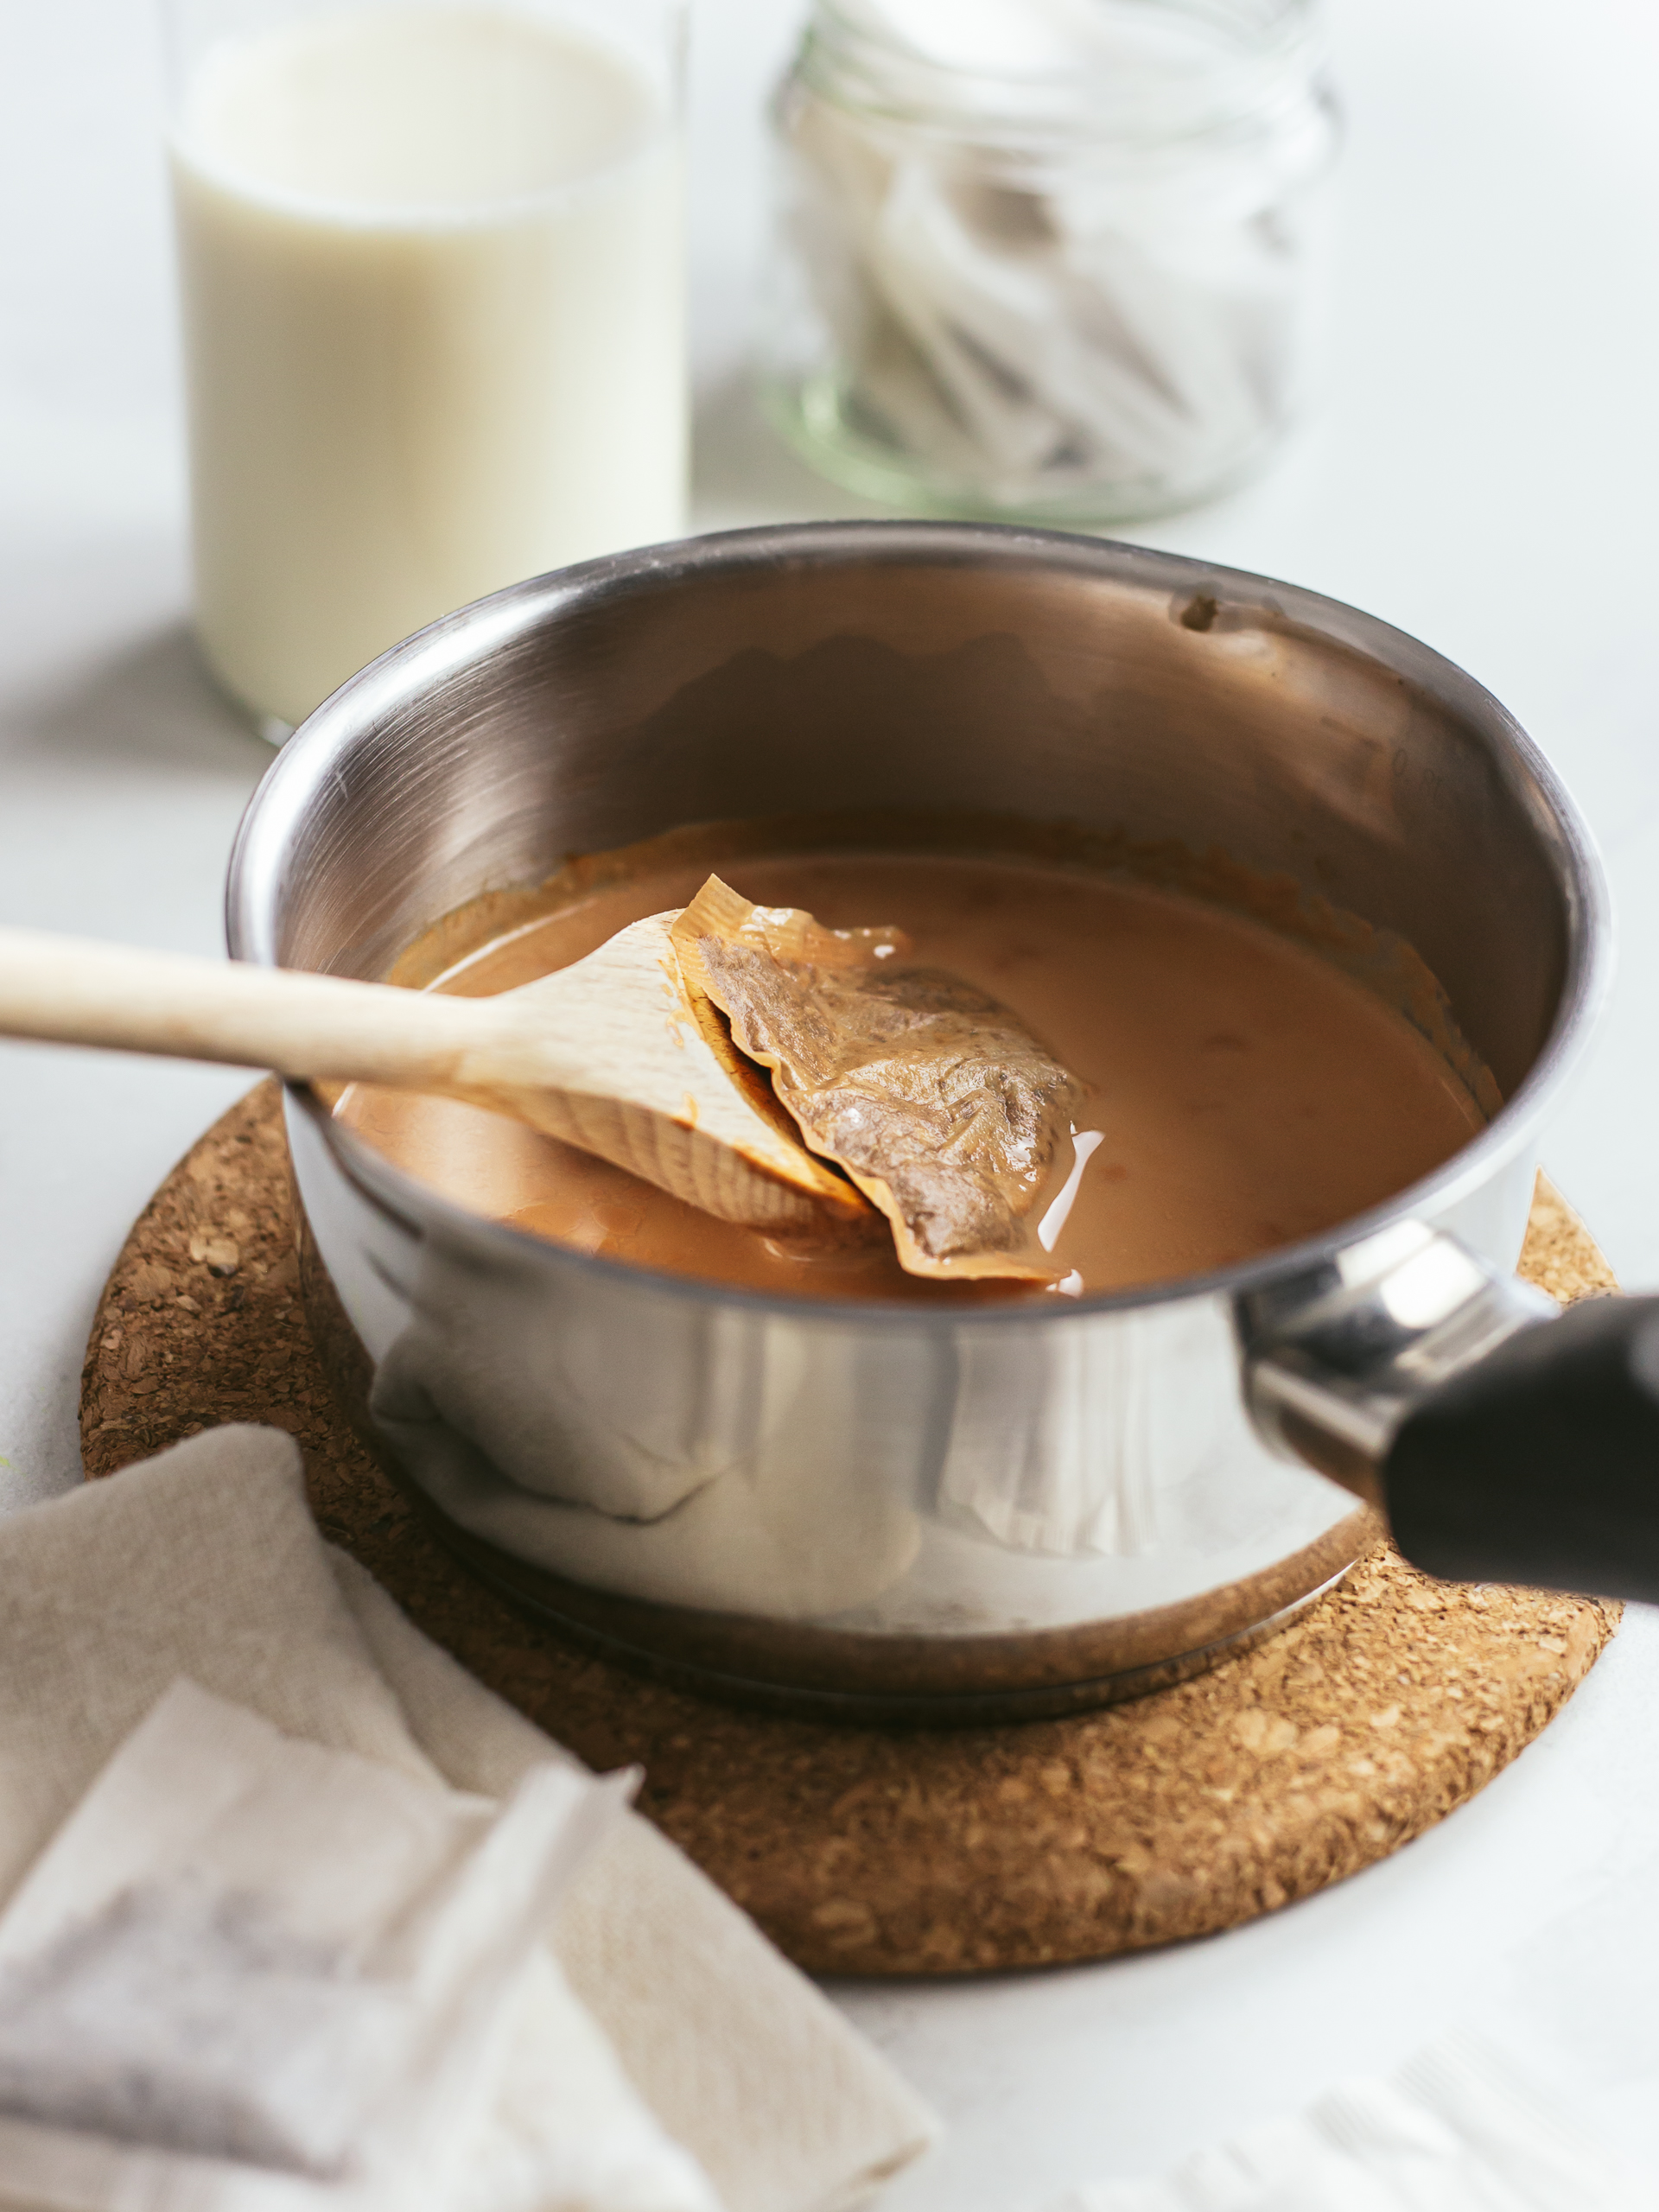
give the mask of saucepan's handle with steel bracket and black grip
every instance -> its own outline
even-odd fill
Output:
[[[1400,1223],[1239,1298],[1237,1325],[1256,1427],[1413,1566],[1659,1601],[1659,1298],[1557,1314]]]

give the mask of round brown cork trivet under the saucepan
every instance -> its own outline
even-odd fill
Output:
[[[1544,1181],[1522,1272],[1562,1298],[1617,1287]],[[1310,1896],[1489,1783],[1617,1624],[1378,1548],[1267,1644],[1106,1712],[898,1732],[730,1710],[571,1648],[458,1568],[336,1413],[296,1287],[261,1084],[115,1263],[82,1378],[88,1475],[223,1420],[294,1433],[325,1535],[586,1761],[639,1761],[641,1809],[814,1971],[1104,1958]]]

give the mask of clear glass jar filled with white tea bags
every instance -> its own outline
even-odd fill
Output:
[[[1121,522],[1243,480],[1301,411],[1316,0],[816,0],[774,131],[763,392],[823,476]]]

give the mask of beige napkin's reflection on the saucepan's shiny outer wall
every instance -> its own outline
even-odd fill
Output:
[[[916,1555],[902,1500],[931,1380],[914,1340],[807,1345],[770,1314],[538,1281],[434,1239],[369,1411],[440,1511],[520,1559],[628,1597],[821,1619]]]

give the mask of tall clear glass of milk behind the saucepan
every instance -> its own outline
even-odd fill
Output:
[[[681,0],[170,0],[197,628],[268,737],[686,526]]]

